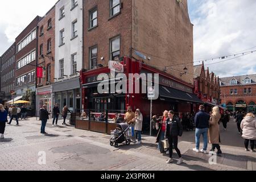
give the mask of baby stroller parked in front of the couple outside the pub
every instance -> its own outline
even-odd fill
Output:
[[[125,142],[127,146],[131,143],[131,129],[127,123],[118,123],[115,130],[111,131],[110,145],[118,147],[119,143]]]

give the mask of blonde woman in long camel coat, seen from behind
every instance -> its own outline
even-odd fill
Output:
[[[209,143],[212,143],[212,149],[210,151],[214,151],[217,148],[217,154],[222,154],[220,150],[220,126],[218,122],[220,121],[221,114],[218,107],[213,107],[212,114],[210,115],[209,121]]]

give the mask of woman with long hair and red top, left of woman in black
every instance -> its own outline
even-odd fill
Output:
[[[163,142],[164,140],[164,133],[166,132],[166,120],[168,118],[168,111],[165,110],[163,112],[162,118],[158,119],[159,123],[157,124],[158,127],[158,135],[156,136],[156,143],[158,143],[158,150],[160,153],[163,153]]]

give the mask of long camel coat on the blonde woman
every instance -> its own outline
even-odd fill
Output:
[[[221,116],[212,115],[209,121],[209,143],[219,144],[220,143],[220,126],[218,122],[220,121]]]

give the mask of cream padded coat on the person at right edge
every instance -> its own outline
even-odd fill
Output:
[[[241,122],[242,138],[256,140],[256,120],[246,116]]]

